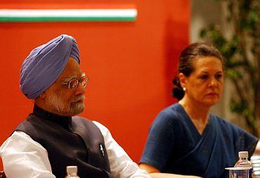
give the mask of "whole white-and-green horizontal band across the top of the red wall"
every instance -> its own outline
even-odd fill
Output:
[[[0,22],[134,21],[137,10],[128,9],[1,9]]]

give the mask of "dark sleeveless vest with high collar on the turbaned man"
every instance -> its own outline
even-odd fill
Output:
[[[54,115],[34,105],[34,112],[15,130],[46,148],[57,178],[66,176],[67,165],[77,165],[81,178],[113,177],[103,135],[90,120]]]

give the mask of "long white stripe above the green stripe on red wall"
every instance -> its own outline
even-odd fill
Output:
[[[128,9],[1,9],[0,17],[136,17],[137,11],[134,8]]]

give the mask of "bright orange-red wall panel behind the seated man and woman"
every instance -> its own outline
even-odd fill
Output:
[[[171,78],[178,53],[188,44],[189,1],[33,2],[1,0],[0,8],[88,8],[107,3],[110,8],[134,5],[138,16],[134,22],[0,23],[0,144],[32,111],[33,101],[19,89],[22,61],[34,47],[70,34],[77,39],[82,69],[90,77],[82,115],[108,127],[138,162],[152,120],[174,102]]]

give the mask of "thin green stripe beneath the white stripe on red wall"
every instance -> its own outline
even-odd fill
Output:
[[[134,21],[136,17],[0,17],[1,22]]]

